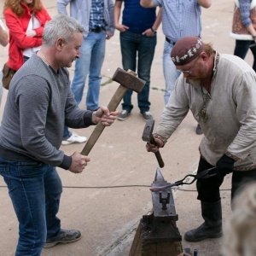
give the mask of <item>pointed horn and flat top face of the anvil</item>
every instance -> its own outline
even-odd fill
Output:
[[[165,186],[167,184],[166,180],[162,176],[162,173],[160,172],[160,168],[158,167],[156,169],[154,182],[151,184],[151,187],[161,187]],[[162,194],[162,197],[166,198],[168,194],[170,194],[169,197],[169,203],[166,205],[166,210],[163,209],[162,203],[160,202],[160,193]],[[154,211],[154,218],[170,218],[172,220],[177,220],[177,214],[175,210],[173,195],[172,195],[172,189],[162,189],[161,191],[152,191],[152,202],[153,202],[153,211]]]

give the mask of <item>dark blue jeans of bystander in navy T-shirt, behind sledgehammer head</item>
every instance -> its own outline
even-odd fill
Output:
[[[150,86],[150,70],[154,58],[154,49],[156,45],[156,36],[146,37],[139,33],[120,32],[120,44],[123,68],[127,71],[131,69],[136,72],[140,79],[146,84],[143,90],[137,95],[138,107],[141,112],[149,111],[149,86]],[[122,103],[123,109],[131,112],[133,105],[131,104],[132,90],[127,90]]]

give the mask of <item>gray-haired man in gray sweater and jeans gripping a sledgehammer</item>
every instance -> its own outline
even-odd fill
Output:
[[[0,128],[0,174],[20,224],[15,255],[40,255],[43,247],[81,236],[79,230],[62,230],[56,217],[62,185],[55,166],[80,173],[90,158],[77,151],[68,156],[59,149],[63,128],[98,122],[109,126],[118,114],[106,107],[81,110],[73,98],[66,67],[80,55],[83,32],[83,26],[67,15],[50,20],[42,48],[10,84]]]

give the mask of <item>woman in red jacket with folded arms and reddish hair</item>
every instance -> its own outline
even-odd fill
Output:
[[[9,28],[9,61],[16,71],[42,45],[45,23],[51,20],[40,0],[6,0],[3,8]]]

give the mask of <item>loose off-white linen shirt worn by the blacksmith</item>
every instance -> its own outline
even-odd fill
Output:
[[[205,90],[204,93],[207,93]],[[188,84],[183,74],[177,79],[175,90],[160,117],[157,133],[169,138],[189,112],[204,132],[200,152],[212,166],[227,152],[237,162],[256,167],[256,74],[241,58],[220,55],[214,64],[211,97],[207,97],[208,119],[200,119],[203,108],[200,84]]]

